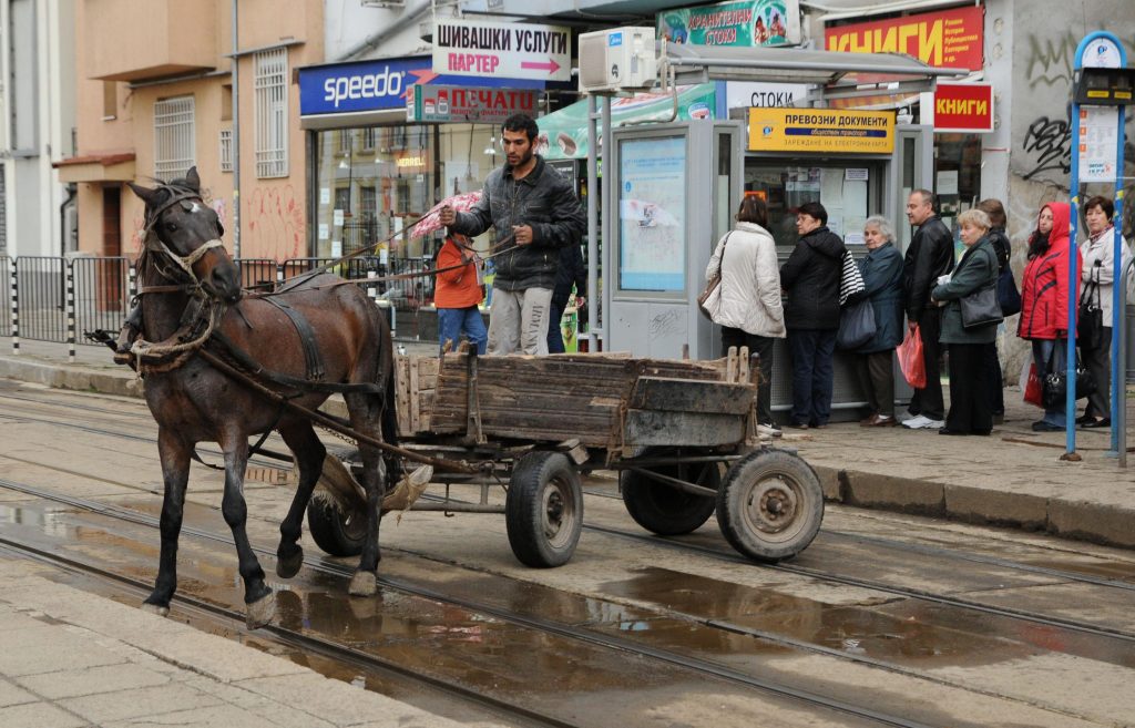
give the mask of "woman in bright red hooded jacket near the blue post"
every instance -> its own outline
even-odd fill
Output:
[[[1041,208],[1036,230],[1028,238],[1028,263],[1020,279],[1017,336],[1033,342],[1033,362],[1041,381],[1049,372],[1067,369],[1068,295],[1079,288],[1077,248],[1073,248],[1076,278],[1070,286],[1068,280],[1068,203],[1050,202]],[[1053,403],[1051,408],[1044,408],[1044,417],[1033,423],[1033,430],[1056,432],[1066,424],[1065,403]]]

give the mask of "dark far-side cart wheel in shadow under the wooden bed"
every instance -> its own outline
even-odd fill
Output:
[[[648,452],[646,457],[650,455],[661,452]],[[721,471],[716,463],[656,465],[646,469],[714,490],[721,485]],[[659,536],[678,536],[697,531],[713,515],[716,505],[712,496],[695,496],[669,488],[665,483],[634,471],[620,473],[619,489],[623,492],[627,513],[634,523]]]

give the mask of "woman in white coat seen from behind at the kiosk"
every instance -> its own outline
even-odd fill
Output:
[[[721,271],[721,302],[713,322],[721,327],[721,346],[749,347],[760,356],[757,389],[757,432],[779,437],[773,423],[773,341],[784,338],[776,243],[766,229],[768,210],[757,195],[746,195],[737,211],[737,225],[717,243],[706,280]]]

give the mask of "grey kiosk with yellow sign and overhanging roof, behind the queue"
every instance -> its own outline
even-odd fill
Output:
[[[674,46],[667,44],[663,74],[675,70],[680,83],[767,81],[812,83],[855,91],[840,79],[848,73],[871,71],[910,78],[933,87],[935,76],[965,71],[933,68],[894,56]],[[759,58],[758,58],[759,57]],[[864,93],[877,94],[877,88]],[[823,103],[822,94],[815,103]],[[788,119],[796,113],[806,119]],[[785,143],[784,126],[812,124],[813,144]],[[858,125],[858,126],[856,126]],[[864,134],[840,134],[839,129]],[[835,130],[835,132],[833,132]],[[798,136],[793,133],[792,136]],[[777,142],[780,139],[780,142]],[[871,141],[868,144],[867,141]],[[905,204],[914,188],[932,188],[933,136],[928,126],[899,126],[894,112],[855,112],[822,108],[753,109],[741,120],[693,120],[624,126],[609,132],[604,149],[612,151],[605,176],[603,246],[604,315],[598,331],[604,348],[636,356],[695,358],[721,355],[713,323],[697,308],[705,269],[717,240],[731,228],[741,195],[759,194],[770,206],[770,227],[781,260],[796,244],[797,204],[818,200],[833,213],[830,226],[850,237],[856,252],[863,221],[884,214],[909,239]],[[594,156],[589,160],[594,163]],[[838,212],[838,220],[835,213]],[[835,222],[834,226],[831,222]],[[859,248],[857,255],[865,254]],[[787,346],[774,350],[773,409],[791,404]],[[897,397],[903,398],[901,374]],[[835,362],[833,417],[854,415],[863,406],[859,386],[846,356]]]

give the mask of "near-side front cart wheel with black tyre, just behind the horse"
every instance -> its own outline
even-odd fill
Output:
[[[505,499],[505,525],[521,564],[568,562],[583,528],[583,489],[568,456],[535,451],[516,462]]]

